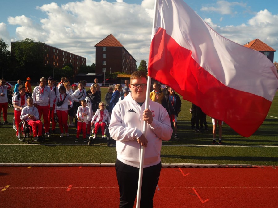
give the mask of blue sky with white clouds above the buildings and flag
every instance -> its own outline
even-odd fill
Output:
[[[277,52],[276,0],[184,0],[217,33],[238,44],[260,39]],[[154,0],[8,0],[1,2],[0,38],[34,39],[95,63],[95,47],[110,34],[148,63]],[[10,49],[9,49],[10,50]]]

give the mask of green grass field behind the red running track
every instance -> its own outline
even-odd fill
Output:
[[[104,98],[107,88],[103,87]],[[103,99],[104,100],[104,99]],[[212,145],[212,123],[207,118],[208,131],[197,133],[191,130],[191,103],[182,100],[182,110],[178,117],[178,135],[162,142],[162,163],[217,163],[278,165],[278,92],[260,128],[248,138],[238,135],[228,125],[223,125],[222,145]],[[13,108],[8,109],[8,121],[13,118]],[[272,117],[270,117],[272,116]],[[3,122],[2,118],[1,121]],[[247,128],[247,127],[246,127]],[[116,147],[107,147],[104,140],[75,143],[75,128],[69,128],[70,137],[60,138],[56,134],[46,138],[43,145],[35,142],[27,145],[16,139],[12,125],[0,126],[0,163],[114,163]],[[82,137],[80,137],[82,138]],[[112,143],[115,143],[114,141]]]

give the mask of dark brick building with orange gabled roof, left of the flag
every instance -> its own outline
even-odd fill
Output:
[[[95,73],[125,72],[136,70],[136,60],[124,46],[112,35],[108,35],[95,45]]]

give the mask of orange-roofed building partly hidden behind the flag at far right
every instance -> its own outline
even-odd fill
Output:
[[[252,41],[246,43],[243,46],[263,53],[273,63],[275,50],[272,47],[268,46],[267,44],[263,43],[261,40],[255,39],[255,40],[252,40]]]

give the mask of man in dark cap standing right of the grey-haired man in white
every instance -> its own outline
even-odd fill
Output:
[[[51,98],[53,100],[53,110],[51,111],[49,109],[49,113],[48,113],[48,121],[49,121],[49,128],[50,128],[50,120],[51,122],[51,133],[55,134],[55,127],[56,127],[56,123],[54,120],[54,109],[55,109],[55,102],[56,102],[56,97],[59,95],[59,89],[53,84],[53,78],[52,77],[48,77],[48,87],[50,88],[51,91]]]

